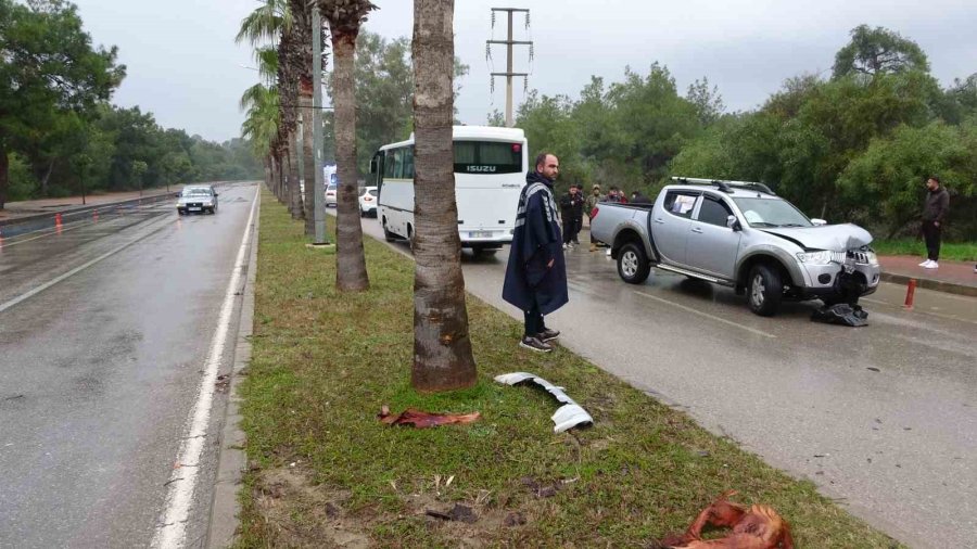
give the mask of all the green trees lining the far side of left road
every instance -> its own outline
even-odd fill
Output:
[[[138,106],[112,105],[126,66],[117,48],[92,41],[71,2],[0,0],[0,209],[18,200],[261,177],[242,139],[211,142],[163,128]]]

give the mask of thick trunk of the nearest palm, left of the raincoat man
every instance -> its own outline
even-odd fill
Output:
[[[414,2],[414,367],[421,392],[470,387],[478,381],[455,204],[454,0]]]

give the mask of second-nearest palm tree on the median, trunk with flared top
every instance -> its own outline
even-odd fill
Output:
[[[335,159],[339,167],[337,192],[335,286],[340,291],[369,289],[363,255],[356,169],[356,100],[353,94],[353,56],[356,37],[367,14],[376,10],[369,0],[318,0],[322,17],[329,22],[333,53],[333,105]]]

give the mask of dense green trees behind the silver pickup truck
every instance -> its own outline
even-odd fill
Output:
[[[531,91],[516,126],[534,153],[560,157],[563,186],[654,196],[670,176],[762,181],[809,216],[884,239],[918,233],[924,181],[938,175],[951,192],[944,241],[977,242],[977,73],[943,87],[918,44],[881,27],[839,47],[833,72],[798,67],[753,111],[725,112],[706,78],[682,94],[652,63],[592,77],[578,97]]]

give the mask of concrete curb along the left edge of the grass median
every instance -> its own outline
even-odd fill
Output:
[[[241,480],[248,465],[248,456],[244,452],[245,436],[240,427],[240,405],[242,398],[238,395],[238,386],[243,379],[241,370],[251,363],[251,334],[254,328],[254,281],[257,273],[257,240],[262,207],[261,183],[258,183],[255,200],[258,201],[258,216],[254,219],[254,232],[249,244],[251,250],[248,254],[248,278],[243,288],[244,295],[241,302],[241,317],[238,323],[238,341],[234,345],[234,362],[231,367],[231,382],[224,411],[224,426],[220,430],[217,477],[214,483],[214,496],[211,501],[211,516],[207,526],[206,547],[214,549],[230,547],[234,541],[241,514],[238,489],[241,487]]]

